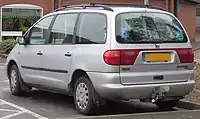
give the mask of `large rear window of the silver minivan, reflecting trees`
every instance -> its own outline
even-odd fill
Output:
[[[184,43],[186,34],[179,22],[164,13],[121,13],[116,17],[118,43]]]

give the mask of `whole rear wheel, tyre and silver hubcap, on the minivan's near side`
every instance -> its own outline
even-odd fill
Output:
[[[82,89],[82,92],[80,89]],[[79,77],[74,85],[74,103],[79,113],[84,115],[92,115],[96,113],[97,107],[94,103],[93,95],[94,88],[89,79],[85,76]]]

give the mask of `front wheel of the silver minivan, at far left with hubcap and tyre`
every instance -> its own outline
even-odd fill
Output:
[[[20,73],[16,65],[12,65],[9,70],[10,91],[13,95],[21,95],[23,93],[20,86]]]

